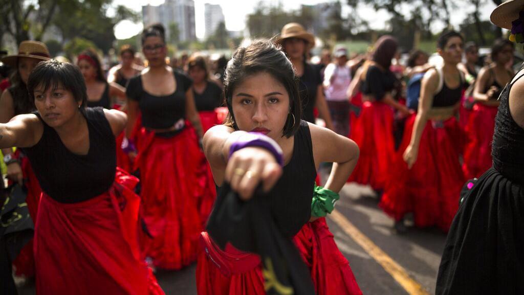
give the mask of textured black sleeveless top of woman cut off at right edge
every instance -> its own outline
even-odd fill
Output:
[[[520,78],[522,75],[517,80]],[[524,185],[524,128],[515,122],[509,112],[512,85],[508,83],[500,94],[492,143],[493,167],[508,179]]]

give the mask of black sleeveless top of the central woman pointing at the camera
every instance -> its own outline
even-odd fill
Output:
[[[315,178],[311,133],[308,123],[302,120],[294,135],[291,161],[284,166],[282,177],[268,193],[271,198],[271,212],[286,237],[296,235],[311,218]],[[220,204],[221,201],[217,200],[217,203]]]

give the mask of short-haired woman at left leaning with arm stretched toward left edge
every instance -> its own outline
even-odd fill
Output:
[[[28,91],[37,112],[0,124],[0,147],[22,148],[42,186],[37,293],[163,294],[138,255],[138,180],[116,169],[126,115],[86,109],[82,74],[70,63],[40,63]]]

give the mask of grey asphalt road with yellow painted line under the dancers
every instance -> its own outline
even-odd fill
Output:
[[[336,205],[336,211],[340,213],[337,216],[342,216],[342,219],[328,218],[336,243],[350,261],[363,293],[434,294],[445,234],[436,228],[418,230],[408,227],[407,233],[398,235],[393,230],[393,221],[377,204],[378,198],[373,191],[347,184]],[[341,220],[351,223],[364,237],[348,234],[347,223],[341,223]],[[372,248],[373,251],[362,246],[366,237],[376,247]],[[377,256],[377,253],[380,255]],[[391,264],[397,264],[398,267],[391,269]],[[195,268],[192,265],[180,271],[159,270],[157,279],[168,295],[196,294]],[[409,286],[420,286],[420,290],[417,287],[409,289]],[[20,294],[34,294],[34,282],[29,281],[21,286]]]

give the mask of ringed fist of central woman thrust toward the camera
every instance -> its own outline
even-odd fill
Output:
[[[225,181],[247,201],[253,197],[260,182],[267,192],[275,186],[281,174],[282,167],[268,150],[246,147],[235,151],[227,162]]]

